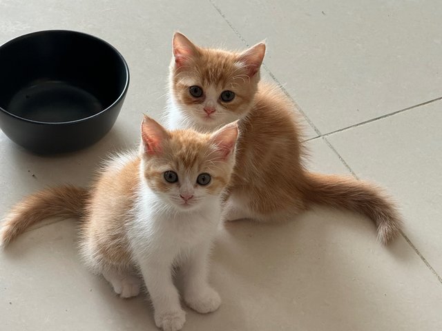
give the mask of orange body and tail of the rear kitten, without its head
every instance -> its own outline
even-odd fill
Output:
[[[372,183],[309,172],[295,106],[277,87],[260,83],[253,107],[240,121],[243,132],[231,192],[253,218],[286,220],[314,204],[365,214],[378,240],[388,243],[401,229],[394,201]],[[254,213],[254,214],[253,214]]]

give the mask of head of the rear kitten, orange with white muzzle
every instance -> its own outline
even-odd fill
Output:
[[[172,97],[198,126],[217,128],[247,115],[260,80],[265,43],[244,52],[200,48],[173,35]]]

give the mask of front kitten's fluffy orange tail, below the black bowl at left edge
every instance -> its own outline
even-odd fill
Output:
[[[81,217],[88,190],[72,185],[47,188],[26,197],[15,205],[3,219],[0,246],[6,246],[30,225],[48,217]]]

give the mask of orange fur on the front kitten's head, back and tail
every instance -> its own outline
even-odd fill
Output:
[[[148,133],[147,129],[142,130],[145,145],[152,143],[146,138]],[[128,154],[120,166],[113,165],[111,160],[89,190],[64,185],[26,197],[6,215],[0,232],[1,245],[7,245],[31,225],[48,217],[80,217],[80,248],[86,264],[96,272],[108,268],[132,270],[126,226],[133,217],[131,210],[140,186],[142,161],[144,177],[157,192],[171,189],[171,184],[163,178],[163,172],[170,169],[187,172],[195,168],[196,172],[211,173],[211,185],[204,188],[209,194],[223,190],[231,176],[227,163],[216,163],[224,157],[224,150],[210,134],[164,130],[164,137],[166,143],[161,148],[153,141],[153,150]],[[236,136],[233,138],[236,140]]]

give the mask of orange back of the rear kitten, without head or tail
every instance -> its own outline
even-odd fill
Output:
[[[256,192],[252,208],[263,214],[288,206],[304,208],[298,187],[304,151],[293,109],[277,86],[260,83],[251,111],[240,121],[242,136],[233,183],[242,194]]]

